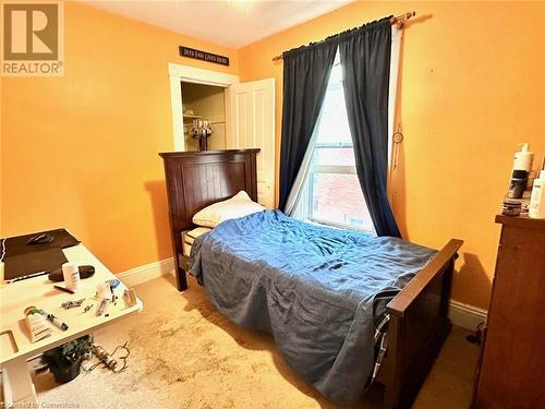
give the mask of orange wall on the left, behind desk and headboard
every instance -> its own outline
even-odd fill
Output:
[[[169,257],[167,64],[237,74],[237,51],[80,3],[64,38],[64,76],[1,80],[2,234],[63,226],[114,272]],[[231,67],[182,59],[182,44]]]

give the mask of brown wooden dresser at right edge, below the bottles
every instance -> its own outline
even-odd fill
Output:
[[[501,224],[475,409],[545,408],[545,220]]]

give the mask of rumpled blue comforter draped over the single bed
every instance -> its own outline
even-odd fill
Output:
[[[190,270],[233,322],[274,335],[289,365],[329,399],[356,400],[374,364],[374,322],[433,256],[398,238],[265,210],[193,243]]]

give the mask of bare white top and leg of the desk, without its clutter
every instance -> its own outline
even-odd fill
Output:
[[[0,263],[0,365],[2,368],[7,406],[14,402],[37,401],[36,390],[26,363],[27,359],[89,334],[96,328],[138,312],[143,308],[142,301],[138,299],[135,305],[125,308],[121,296],[126,287],[121,284],[116,289],[116,294],[120,296],[120,299],[116,305],[110,304],[108,309],[109,316],[96,316],[95,310],[98,301],[94,296],[97,284],[117,277],[83,244],[63,249],[63,252],[69,262],[95,267],[95,275],[81,280],[80,289],[75,294],[53,288],[53,285],[62,286],[63,282],[49,281],[47,275],[5,284],[3,280],[3,263]],[[64,310],[61,306],[61,303],[65,301],[82,298],[85,298],[85,301],[81,308]],[[84,313],[84,306],[88,304],[94,304],[94,306]],[[69,325],[69,329],[63,332],[51,324],[53,329],[51,336],[34,344],[31,342],[31,335],[24,315],[24,309],[29,305],[35,305],[58,316]]]

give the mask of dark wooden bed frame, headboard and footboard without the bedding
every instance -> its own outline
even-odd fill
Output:
[[[183,234],[196,227],[192,224],[193,215],[241,190],[256,201],[257,153],[258,149],[231,149],[160,154],[165,161],[179,290],[187,288]],[[219,227],[223,226],[229,222]],[[195,238],[193,245],[204,241],[202,237]],[[385,408],[411,405],[450,330],[448,303],[453,263],[461,244],[460,240],[450,240],[385,305],[390,317],[389,344],[377,373],[377,382],[385,386]],[[368,366],[368,362],[365,364]]]

